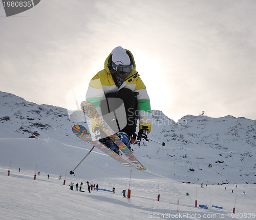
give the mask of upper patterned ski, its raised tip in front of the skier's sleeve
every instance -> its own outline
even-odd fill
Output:
[[[119,147],[119,149],[124,153],[124,155],[132,162],[133,166],[137,170],[147,170],[133,155],[131,150],[122,142],[122,140],[114,133],[112,128],[104,121],[102,116],[100,116],[91,102],[83,101],[81,103],[81,109],[90,119],[97,121],[97,124],[102,126],[102,130],[110,139]]]

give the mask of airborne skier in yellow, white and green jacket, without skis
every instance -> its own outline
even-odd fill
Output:
[[[86,94],[86,100],[96,107],[128,148],[131,148],[130,144],[136,138],[137,120],[139,119],[138,140],[147,138],[152,124],[150,98],[135,68],[135,60],[129,50],[114,48],[105,60],[104,69],[92,78]],[[108,114],[117,113],[120,103],[116,98],[123,101],[125,111],[121,115],[116,114],[117,118],[113,120]],[[120,122],[123,118],[126,120],[122,127]],[[113,127],[118,127],[118,130]],[[119,153],[119,148],[106,138],[96,123],[92,123],[90,128],[98,140]]]

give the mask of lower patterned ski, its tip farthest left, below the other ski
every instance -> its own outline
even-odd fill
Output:
[[[93,139],[91,134],[89,133],[89,131],[83,127],[82,125],[74,125],[72,127],[72,131],[73,133],[80,139],[87,141],[88,143],[92,144],[93,146],[97,147],[98,149],[100,149],[101,151],[103,151],[104,153],[106,153],[106,155],[109,155],[110,157],[112,157],[113,159],[115,159],[117,162],[119,162],[120,164],[122,164],[125,167],[132,167],[133,165],[130,164],[129,162],[125,161],[120,155],[118,155],[116,152],[114,152],[113,150],[111,150],[110,148],[106,147],[104,144],[102,144],[101,142],[99,142],[96,139]]]

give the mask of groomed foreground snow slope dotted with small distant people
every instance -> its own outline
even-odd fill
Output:
[[[204,185],[182,184],[169,179],[154,177],[135,179],[131,185],[126,178],[110,174],[102,178],[95,173],[94,179],[82,179],[69,175],[66,185],[63,177],[41,172],[34,180],[31,170],[7,170],[0,167],[1,200],[0,212],[3,220],[52,220],[52,219],[254,219],[255,185]],[[70,191],[69,184],[80,185],[84,192]],[[87,191],[86,181],[99,184],[100,189],[110,191]],[[124,198],[123,189],[130,185],[131,199]],[[232,193],[233,190],[233,193]],[[186,192],[189,195],[186,195]],[[245,193],[243,193],[245,192]],[[157,195],[160,194],[160,201]],[[197,200],[197,207],[195,201]],[[179,204],[178,204],[179,203]],[[206,205],[208,209],[200,208]],[[212,207],[222,207],[222,209]],[[233,208],[236,213],[232,213]]]

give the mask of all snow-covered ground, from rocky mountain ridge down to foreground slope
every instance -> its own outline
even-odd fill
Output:
[[[4,92],[0,103],[1,219],[256,218],[253,120],[185,116],[175,123],[154,111],[150,138],[166,145],[133,146],[148,171],[125,168],[95,149],[69,175],[91,145],[73,135],[71,127],[78,122],[69,120],[67,110]],[[85,192],[69,190],[71,182],[81,181]],[[87,181],[102,189],[115,187],[116,193],[89,193]],[[131,199],[121,194],[129,188]]]

